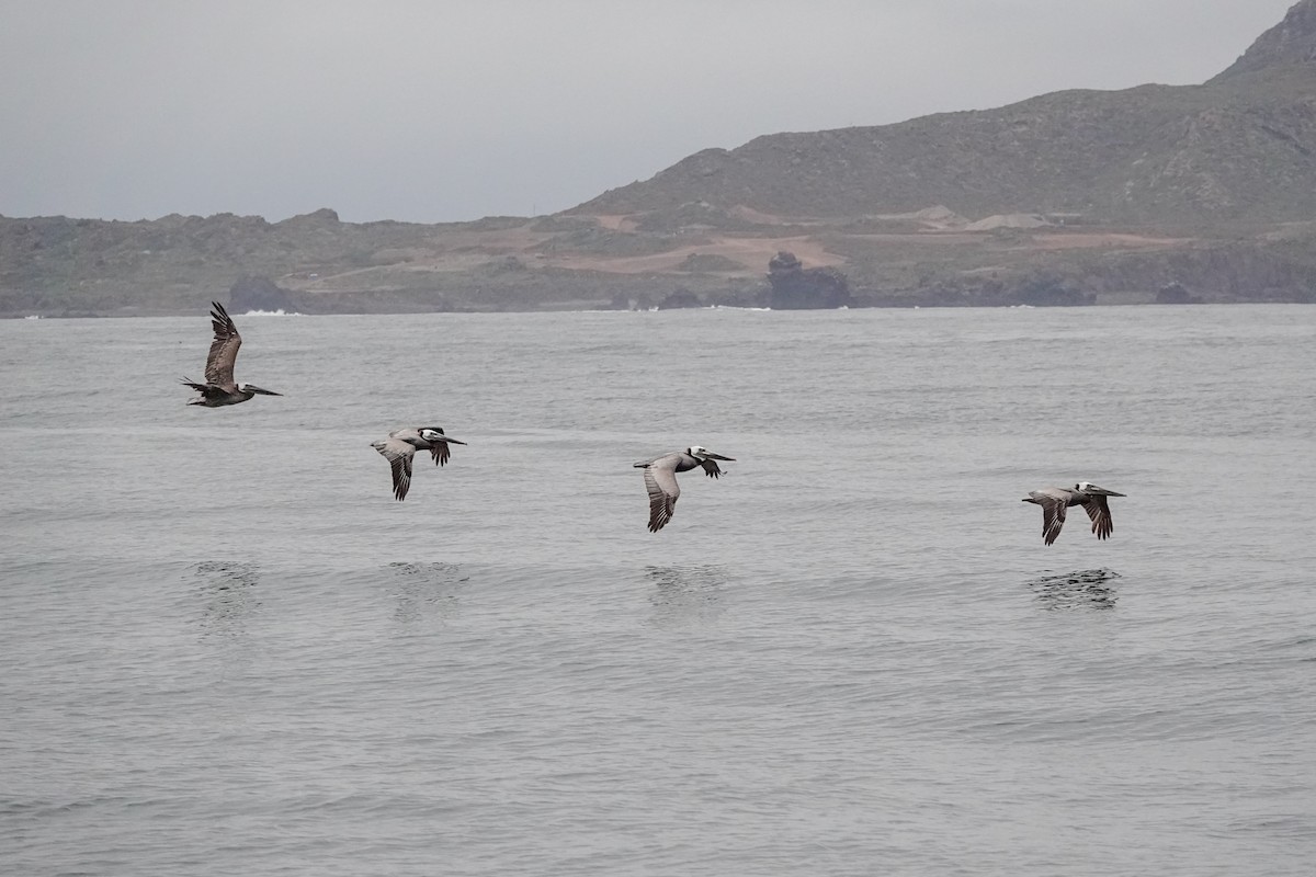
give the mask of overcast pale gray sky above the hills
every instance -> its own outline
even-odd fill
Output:
[[[761,134],[1199,83],[1294,0],[0,0],[0,213],[551,213]]]

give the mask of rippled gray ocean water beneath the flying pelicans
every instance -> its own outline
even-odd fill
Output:
[[[0,322],[0,872],[1312,873],[1316,308],[237,322]]]

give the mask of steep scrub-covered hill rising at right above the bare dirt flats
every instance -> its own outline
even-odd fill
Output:
[[[896,125],[705,150],[574,213],[688,201],[797,217],[1067,213],[1203,227],[1316,216],[1316,0],[1202,85],[1065,91]]]

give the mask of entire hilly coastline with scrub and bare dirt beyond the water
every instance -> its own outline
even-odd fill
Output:
[[[1316,0],[1202,85],[705,150],[553,217],[0,217],[0,316],[1316,301]]]

